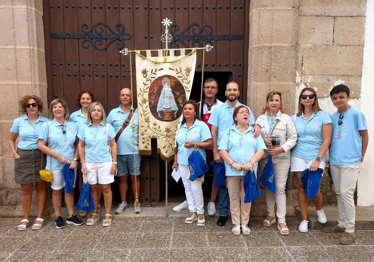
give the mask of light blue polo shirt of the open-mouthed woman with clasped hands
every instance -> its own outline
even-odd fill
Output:
[[[236,125],[232,125],[224,132],[224,136],[221,140],[220,147],[218,150],[226,150],[231,156],[232,160],[238,164],[248,163],[252,159],[253,155],[258,150],[267,150],[265,143],[261,136],[255,138],[253,136],[252,127],[249,126],[245,133],[242,135],[237,129]],[[241,170],[239,173],[235,168],[231,168],[231,163],[224,161],[224,167],[226,170],[226,176],[245,176],[248,171]],[[257,172],[256,164],[254,171]]]

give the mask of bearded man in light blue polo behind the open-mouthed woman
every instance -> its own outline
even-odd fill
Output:
[[[212,125],[212,139],[213,139],[213,155],[214,160],[217,163],[223,163],[224,160],[218,152],[218,147],[220,146],[220,141],[224,132],[234,124],[232,114],[238,106],[241,104],[238,101],[239,97],[239,86],[236,82],[229,82],[226,85],[225,90],[226,102],[224,104],[217,106],[212,112],[208,124]],[[260,126],[255,125],[255,116],[253,115],[250,108],[248,108],[250,113],[249,124],[253,127],[255,137],[260,135]],[[226,187],[220,187],[219,189],[219,203],[218,207],[220,210],[220,217],[218,218],[217,225],[224,226],[227,221],[227,211],[229,208],[229,198],[228,190]]]

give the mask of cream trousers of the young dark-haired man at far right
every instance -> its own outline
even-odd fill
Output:
[[[340,227],[344,227],[347,233],[355,231],[356,213],[353,193],[361,168],[362,164],[360,162],[352,166],[330,165],[331,177],[337,194],[337,212],[339,215],[337,223]]]

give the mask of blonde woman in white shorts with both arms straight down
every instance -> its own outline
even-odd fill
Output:
[[[112,189],[114,175],[117,171],[117,145],[112,125],[107,123],[107,116],[103,106],[94,102],[88,108],[87,124],[81,126],[78,132],[79,158],[82,164],[82,173],[87,174],[88,184],[91,188],[95,210],[87,219],[86,225],[94,225],[100,220],[98,207],[98,187],[104,195],[105,217],[103,226],[112,225]]]

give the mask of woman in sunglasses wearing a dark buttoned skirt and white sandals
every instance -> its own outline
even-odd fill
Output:
[[[19,231],[26,230],[29,225],[30,208],[32,196],[37,189],[37,220],[32,229],[39,229],[43,224],[43,210],[46,199],[45,182],[40,179],[39,170],[45,167],[45,156],[41,163],[41,152],[37,148],[37,137],[41,125],[48,121],[47,118],[39,115],[43,110],[43,101],[33,95],[27,95],[18,102],[21,117],[14,119],[10,128],[8,145],[14,157],[15,182],[21,184],[21,203],[24,219],[17,226]],[[19,142],[16,150],[16,140]]]

